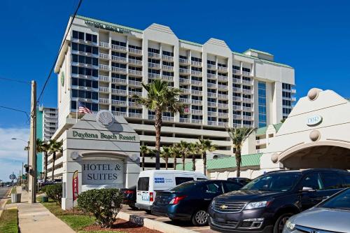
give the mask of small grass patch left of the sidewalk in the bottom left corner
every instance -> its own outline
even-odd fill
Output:
[[[1,233],[18,233],[18,209],[6,209],[0,218]]]

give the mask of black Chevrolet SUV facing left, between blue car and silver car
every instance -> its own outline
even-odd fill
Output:
[[[344,170],[272,171],[214,198],[209,225],[218,232],[280,233],[290,216],[348,186],[350,172]]]

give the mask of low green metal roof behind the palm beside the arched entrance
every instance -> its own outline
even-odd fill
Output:
[[[241,155],[241,167],[256,167],[260,166],[260,157],[262,153],[250,154],[250,155]],[[235,168],[236,157],[223,157],[215,160],[207,161],[207,169],[228,169]]]

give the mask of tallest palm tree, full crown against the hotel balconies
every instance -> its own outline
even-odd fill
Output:
[[[181,90],[169,87],[165,80],[155,79],[152,83],[144,84],[147,97],[133,95],[139,104],[155,112],[155,169],[160,169],[160,132],[162,129],[162,115],[164,112],[183,113],[185,105],[179,101]]]

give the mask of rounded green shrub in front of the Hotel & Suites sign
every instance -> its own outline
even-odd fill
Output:
[[[122,209],[123,193],[116,188],[87,190],[78,196],[78,208],[92,213],[101,227],[111,227]]]

